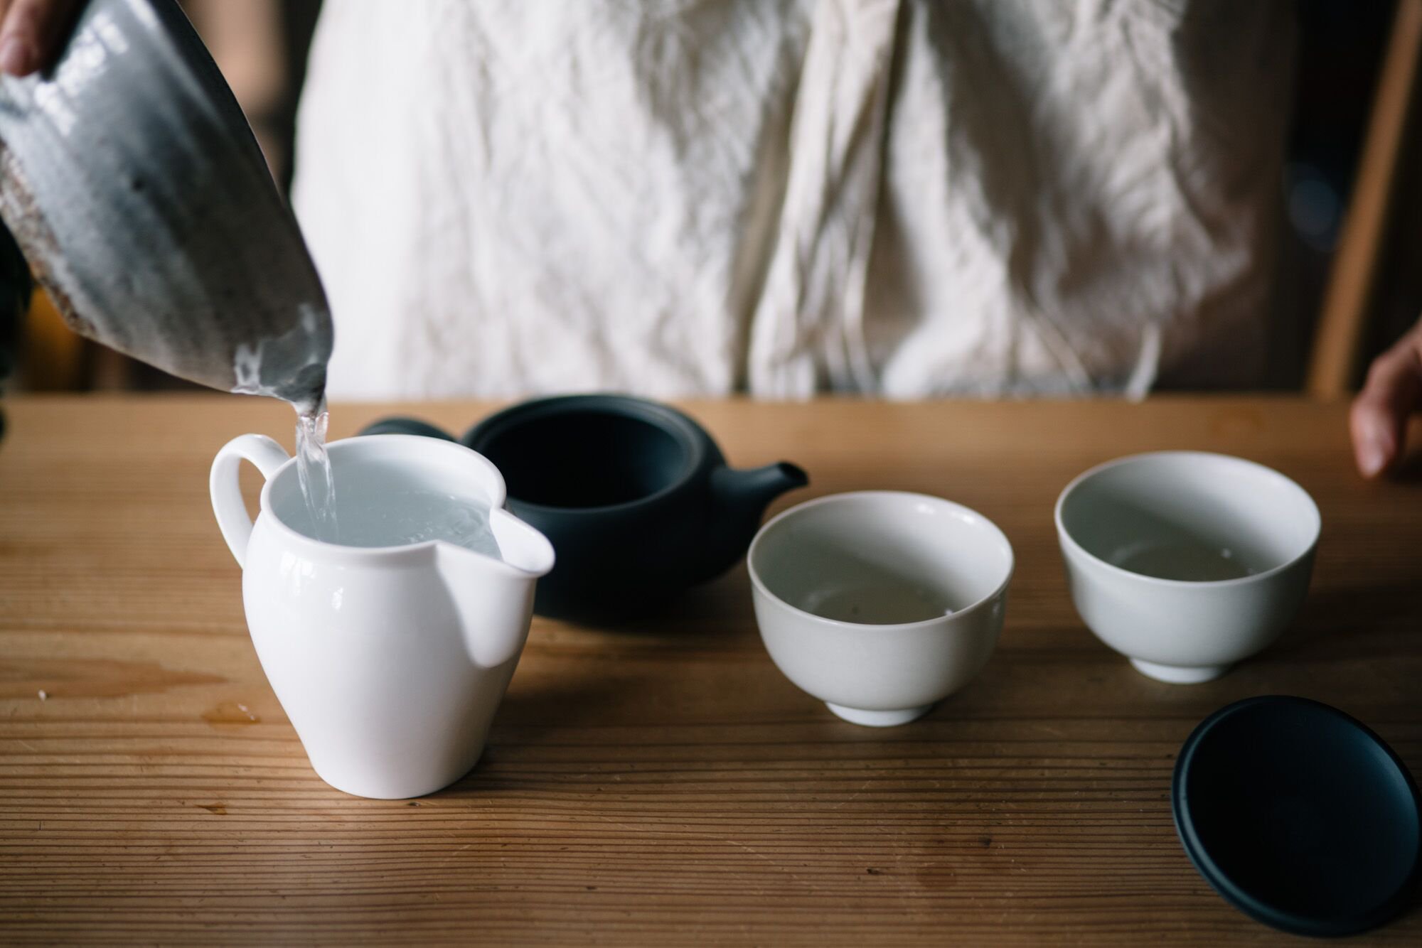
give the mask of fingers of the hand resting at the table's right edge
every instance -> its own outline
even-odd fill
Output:
[[[1408,419],[1422,408],[1422,320],[1368,367],[1368,381],[1348,416],[1352,453],[1365,478],[1402,458]]]

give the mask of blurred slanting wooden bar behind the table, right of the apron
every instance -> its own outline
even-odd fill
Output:
[[[1374,308],[1388,217],[1398,193],[1399,165],[1415,111],[1422,61],[1422,0],[1398,0],[1378,92],[1364,138],[1352,199],[1328,273],[1328,286],[1314,333],[1307,392],[1320,399],[1352,391]]]

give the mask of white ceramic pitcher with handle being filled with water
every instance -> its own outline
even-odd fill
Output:
[[[491,507],[502,560],[439,540],[336,546],[290,526],[304,520],[304,500],[274,441],[242,435],[212,463],[212,506],[243,567],[252,642],[316,773],[357,796],[432,793],[483,750],[553,547],[502,509],[503,478],[462,445],[368,435],[328,449],[337,512],[341,483],[357,479],[478,492]],[[256,523],[237,488],[242,460],[266,478]]]

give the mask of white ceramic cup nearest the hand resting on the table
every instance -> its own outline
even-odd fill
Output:
[[[1121,458],[1057,502],[1072,601],[1143,674],[1189,684],[1273,642],[1308,590],[1320,517],[1261,465],[1203,452]]]

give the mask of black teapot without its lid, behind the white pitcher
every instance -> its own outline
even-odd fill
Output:
[[[412,418],[363,435],[452,438]],[[506,408],[464,438],[493,462],[508,507],[553,543],[540,615],[602,621],[654,608],[734,566],[779,495],[809,483],[779,462],[732,470],[683,412],[627,395],[563,395]]]

